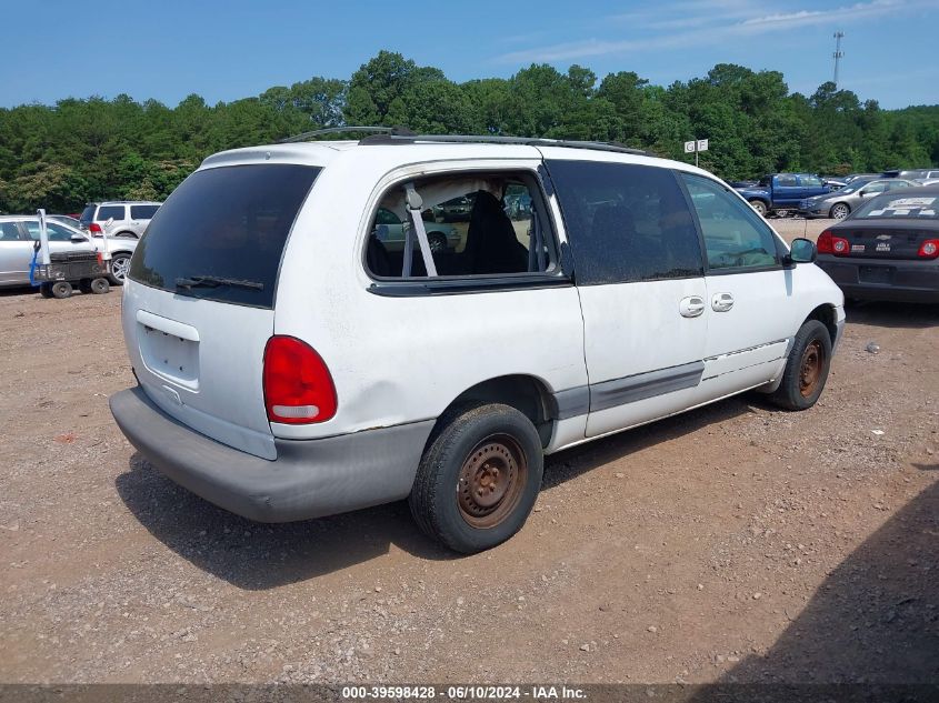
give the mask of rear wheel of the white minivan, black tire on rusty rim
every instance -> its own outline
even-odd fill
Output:
[[[521,529],[543,470],[541,440],[526,415],[509,405],[463,405],[440,418],[408,503],[424,533],[472,554]]]

